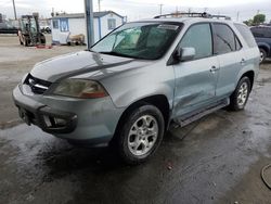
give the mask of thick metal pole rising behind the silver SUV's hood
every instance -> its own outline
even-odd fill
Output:
[[[92,0],[85,0],[85,16],[87,28],[87,46],[88,49],[94,43],[94,30],[93,30],[93,2]]]

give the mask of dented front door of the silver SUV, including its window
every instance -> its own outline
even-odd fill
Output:
[[[214,101],[219,71],[218,59],[212,54],[209,23],[192,25],[179,46],[194,48],[195,58],[173,65],[176,73],[173,116],[183,116]]]

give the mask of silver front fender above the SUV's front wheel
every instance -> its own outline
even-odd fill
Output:
[[[163,94],[170,109],[175,95],[173,68],[165,62],[119,73],[101,81],[116,107],[127,107],[143,98]]]

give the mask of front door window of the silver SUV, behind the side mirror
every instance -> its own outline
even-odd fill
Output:
[[[194,60],[212,55],[212,41],[209,24],[196,24],[184,34],[181,48],[194,48],[196,51]]]

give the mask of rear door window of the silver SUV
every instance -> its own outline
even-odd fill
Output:
[[[236,36],[224,24],[214,24],[214,52],[223,54],[236,50]]]

